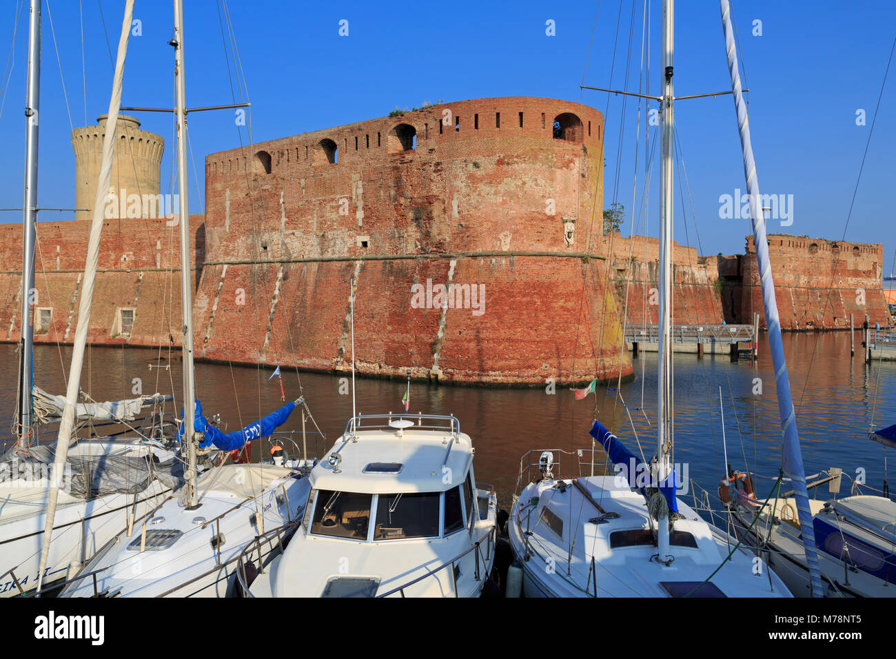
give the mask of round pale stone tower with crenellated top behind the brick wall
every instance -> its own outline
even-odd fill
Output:
[[[98,126],[72,131],[75,163],[75,207],[90,209],[75,213],[78,220],[90,220],[97,195],[99,165],[103,157],[107,115],[97,117]],[[112,180],[109,183],[106,216],[158,217],[159,171],[165,140],[160,135],[140,130],[140,121],[119,115],[116,125]]]

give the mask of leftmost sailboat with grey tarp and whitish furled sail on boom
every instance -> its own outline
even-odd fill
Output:
[[[66,399],[48,395],[33,382],[35,244],[38,212],[40,0],[30,0],[26,90],[25,195],[22,240],[22,332],[16,442],[0,456],[0,596],[28,594],[40,582],[71,576],[100,546],[134,518],[159,505],[182,481],[170,424],[159,405],[170,396],[140,396],[110,403],[74,403],[73,420],[125,424],[116,437],[75,440],[55,466],[53,447],[38,445],[40,423],[62,420]],[[114,125],[110,128],[114,134]],[[108,188],[107,188],[108,189]],[[101,213],[101,204],[100,204]],[[79,323],[80,325],[80,323]],[[73,400],[77,399],[74,393]],[[139,417],[144,416],[141,420]],[[65,480],[58,519],[46,536],[49,484]],[[47,545],[40,567],[41,547]]]

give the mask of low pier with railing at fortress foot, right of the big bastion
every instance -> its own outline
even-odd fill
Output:
[[[732,360],[745,352],[755,359],[758,354],[758,314],[754,314],[753,320],[753,325],[672,325],[672,351],[692,353],[698,358],[704,354],[730,355]],[[626,325],[625,343],[633,357],[640,351],[656,352],[659,325]],[[741,348],[741,343],[746,347]]]

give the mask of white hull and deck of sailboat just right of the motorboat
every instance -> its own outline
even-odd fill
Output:
[[[669,597],[695,593],[704,582],[715,594],[694,596],[790,596],[774,570],[756,568],[753,553],[741,548],[726,560],[736,541],[680,499],[681,535],[672,543],[674,560],[664,565],[651,558],[656,545],[645,542],[650,525],[640,494],[614,477],[578,482],[590,499],[573,481],[538,481],[513,502],[508,535],[526,597]],[[598,521],[604,514],[593,501],[610,514],[606,519]],[[638,540],[615,540],[616,533]]]

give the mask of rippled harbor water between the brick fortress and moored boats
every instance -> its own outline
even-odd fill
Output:
[[[724,455],[736,469],[748,468],[770,480],[756,484],[764,498],[780,470],[780,422],[771,358],[765,334],[759,359],[693,354],[674,357],[675,452],[688,491],[693,481],[715,493],[724,473]],[[785,334],[790,384],[797,410],[806,473],[840,467],[840,496],[849,494],[850,479],[860,479],[878,490],[888,477],[888,449],[867,439],[873,425],[880,429],[896,423],[896,362],[862,360],[857,336],[857,355],[850,358],[849,334]],[[34,356],[35,383],[54,394],[65,393],[71,349],[40,345]],[[473,386],[410,384],[410,411],[454,414],[461,430],[476,447],[478,481],[490,482],[501,507],[510,508],[520,473],[521,455],[530,449],[562,449],[559,475],[587,475],[591,469],[590,429],[598,419],[639,453],[650,458],[655,450],[656,353],[642,352],[634,360],[635,377],[616,392],[616,385],[598,386],[596,395],[575,401],[568,386],[531,389],[497,389]],[[176,396],[181,404],[180,357],[177,351],[92,347],[85,360],[82,390],[97,401],[133,397],[135,393]],[[160,368],[155,368],[159,365]],[[153,368],[151,368],[151,366]],[[280,406],[280,384],[269,379],[270,368],[196,364],[199,398],[206,414],[220,414],[222,429],[238,429]],[[11,438],[17,359],[13,344],[0,345],[0,368],[7,377],[0,382],[0,419],[4,438]],[[352,411],[350,376],[299,373],[282,369],[287,400],[305,395],[314,421],[331,447]],[[407,384],[397,380],[356,381],[359,413],[400,412]],[[722,412],[719,410],[721,387]],[[174,408],[168,406],[168,412]],[[722,437],[724,420],[725,441]],[[309,422],[309,454],[314,455],[314,425]],[[39,441],[55,440],[56,425],[40,430]],[[283,427],[300,430],[301,416],[293,413]],[[323,439],[322,439],[323,441]],[[299,442],[300,443],[300,442]],[[317,442],[320,447],[322,442]],[[255,442],[258,445],[258,442]],[[586,449],[582,456],[578,449]],[[260,455],[254,446],[254,459]],[[538,455],[532,460],[537,461]],[[598,451],[595,473],[603,473],[606,456]],[[891,460],[892,461],[892,460]],[[896,467],[896,464],[894,464]],[[556,474],[557,475],[557,474]],[[819,492],[826,495],[827,486]],[[684,494],[684,492],[683,492]],[[812,493],[810,492],[810,495]]]

